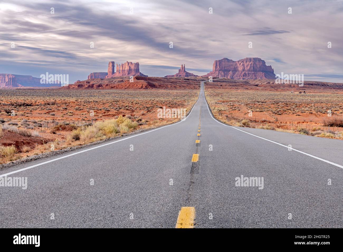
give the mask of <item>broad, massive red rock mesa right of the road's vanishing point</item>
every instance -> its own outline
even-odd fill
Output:
[[[223,58],[215,60],[213,70],[203,77],[226,77],[236,80],[275,79],[274,69],[260,58],[245,58],[237,61]]]

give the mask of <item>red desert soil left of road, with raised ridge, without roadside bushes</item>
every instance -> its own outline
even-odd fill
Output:
[[[15,160],[20,155],[50,151],[51,142],[54,142],[55,149],[82,144],[70,142],[68,137],[72,130],[82,125],[87,127],[92,121],[122,116],[137,123],[137,129],[143,130],[176,122],[179,118],[159,118],[158,109],[185,108],[189,111],[199,95],[199,80],[137,79],[139,76],[134,83],[127,77],[106,79],[110,82],[107,83],[109,89],[99,84],[103,81],[101,79],[87,81],[99,82],[96,84],[100,85],[99,88],[88,83],[87,88],[78,88],[75,84],[59,89],[0,89],[0,127],[3,125],[0,147],[15,145],[17,149],[16,156],[11,158],[2,159],[0,154],[0,164]],[[21,133],[27,131],[39,136],[23,136],[13,130],[5,130],[10,126],[14,129],[19,127]],[[31,150],[22,153],[24,145]]]

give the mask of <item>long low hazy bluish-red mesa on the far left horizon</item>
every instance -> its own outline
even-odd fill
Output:
[[[10,73],[0,73],[0,87],[52,87],[58,86],[58,83],[40,83],[40,78],[31,75],[19,75]]]

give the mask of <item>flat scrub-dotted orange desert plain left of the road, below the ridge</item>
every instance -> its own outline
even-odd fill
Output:
[[[195,87],[195,86],[194,86]],[[0,89],[0,163],[18,158],[103,140],[138,129],[150,129],[180,118],[158,118],[159,108],[192,107],[198,88],[168,90],[115,89]],[[124,118],[125,125],[120,123]],[[94,137],[74,137],[75,132],[100,122],[117,127]],[[130,121],[130,122],[129,122]],[[14,147],[15,150],[10,147]],[[13,155],[12,155],[13,154]]]

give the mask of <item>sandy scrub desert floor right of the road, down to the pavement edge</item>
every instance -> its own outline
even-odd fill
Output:
[[[215,83],[205,86],[210,107],[223,122],[341,139],[343,93],[310,88],[305,92],[222,84],[218,88]]]

